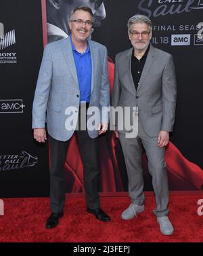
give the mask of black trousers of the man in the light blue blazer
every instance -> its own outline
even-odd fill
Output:
[[[76,130],[78,148],[83,161],[83,175],[87,207],[99,208],[99,168],[97,138],[91,139],[87,130]],[[65,204],[64,163],[69,141],[57,141],[49,135],[51,150],[50,205],[53,213],[60,213]]]

